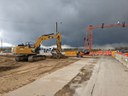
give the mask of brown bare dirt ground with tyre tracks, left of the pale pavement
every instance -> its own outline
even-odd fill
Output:
[[[74,58],[46,59],[37,62],[16,62],[14,57],[0,56],[0,95],[22,87],[32,81],[63,68],[73,62]]]

